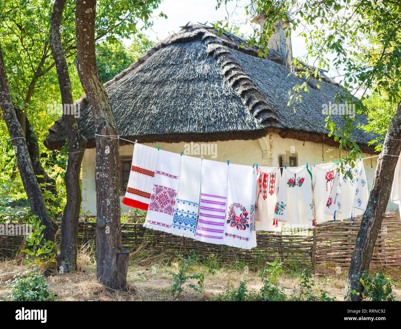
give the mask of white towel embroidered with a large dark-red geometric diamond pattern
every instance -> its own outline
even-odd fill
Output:
[[[160,154],[144,227],[171,233],[181,157],[177,153],[164,150],[156,152]]]

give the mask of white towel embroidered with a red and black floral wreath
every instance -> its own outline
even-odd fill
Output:
[[[228,194],[223,244],[251,249],[253,232],[251,213],[254,216],[251,205],[255,195],[253,168],[237,164],[227,167]]]

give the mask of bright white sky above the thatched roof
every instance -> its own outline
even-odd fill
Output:
[[[197,22],[216,22],[217,20],[224,20],[228,15],[230,20],[244,21],[245,10],[243,9],[244,0],[237,0],[237,8],[235,8],[236,1],[230,1],[226,8],[222,5],[216,10],[216,0],[164,0],[159,8],[154,11],[153,27],[146,30],[144,33],[150,39],[156,41],[165,39],[170,34],[180,31],[180,26],[186,25],[187,22],[196,24]],[[158,17],[160,11],[164,12],[168,18]],[[249,25],[243,26],[240,30],[242,33],[247,33],[251,29]],[[296,32],[296,31],[295,31]],[[170,33],[170,34],[169,34]],[[299,37],[297,33],[292,33],[292,53],[294,57],[302,57],[307,53],[305,47],[305,39]],[[336,76],[336,72],[329,71],[328,76]],[[337,80],[337,79],[336,79]]]

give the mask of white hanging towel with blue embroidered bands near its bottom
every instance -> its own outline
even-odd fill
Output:
[[[172,233],[182,237],[195,235],[201,188],[201,159],[181,156],[180,180],[175,204]]]

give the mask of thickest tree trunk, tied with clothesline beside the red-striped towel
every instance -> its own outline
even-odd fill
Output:
[[[77,0],[75,31],[77,35],[77,70],[91,104],[96,132],[96,274],[106,286],[123,288],[128,270],[128,250],[121,249],[118,157],[111,104],[99,76],[95,56],[96,0]]]

